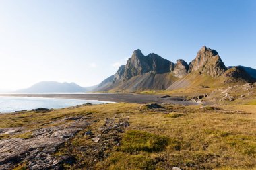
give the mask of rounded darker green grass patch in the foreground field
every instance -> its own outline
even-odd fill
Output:
[[[135,151],[158,152],[168,145],[168,138],[139,130],[130,130],[123,135],[120,150],[133,153]]]

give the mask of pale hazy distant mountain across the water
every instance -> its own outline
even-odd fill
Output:
[[[41,81],[28,89],[20,89],[15,93],[77,93],[87,89],[75,83],[59,83],[56,81]]]

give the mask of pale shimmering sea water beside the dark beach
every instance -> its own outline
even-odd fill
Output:
[[[0,97],[0,113],[32,110],[36,108],[66,108],[84,103],[101,104],[113,103],[98,100],[56,99],[43,97]]]

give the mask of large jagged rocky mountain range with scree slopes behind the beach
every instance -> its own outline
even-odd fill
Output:
[[[135,50],[126,65],[102,81],[94,91],[143,91],[177,89],[212,83],[255,81],[255,69],[227,68],[218,52],[203,46],[189,64],[177,60],[176,64],[157,54],[143,55]]]

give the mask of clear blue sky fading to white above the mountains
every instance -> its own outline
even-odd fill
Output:
[[[133,50],[191,62],[202,46],[256,68],[254,0],[0,0],[0,89],[96,85]]]

